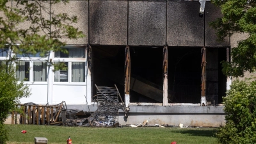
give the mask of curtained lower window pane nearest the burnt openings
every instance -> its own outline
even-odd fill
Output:
[[[85,63],[72,63],[72,82],[85,82]]]

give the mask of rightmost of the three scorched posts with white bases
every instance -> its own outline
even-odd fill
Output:
[[[201,106],[205,106],[206,99],[205,99],[205,71],[206,71],[206,49],[203,47],[201,49],[201,56],[202,56],[202,62],[201,62]]]

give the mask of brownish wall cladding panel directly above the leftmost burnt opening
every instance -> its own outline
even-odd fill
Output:
[[[127,1],[89,1],[90,44],[127,45]]]

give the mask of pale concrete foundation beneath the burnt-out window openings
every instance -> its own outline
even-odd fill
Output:
[[[68,105],[68,109],[95,111],[95,106]],[[126,119],[124,112],[119,111],[118,122],[121,125],[142,124],[148,120],[148,125],[168,124],[178,126],[220,127],[225,125],[223,106],[130,106],[129,116]]]

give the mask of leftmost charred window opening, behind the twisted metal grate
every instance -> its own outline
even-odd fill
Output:
[[[92,46],[93,83],[92,96],[97,94],[97,86],[118,87],[124,100],[124,52],[125,46]],[[93,97],[95,100],[96,97]]]

